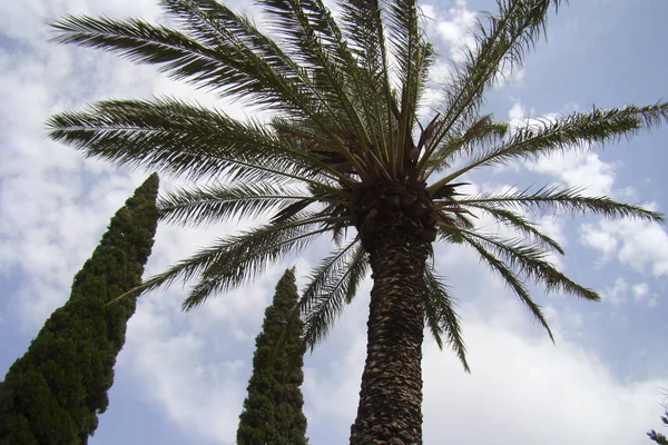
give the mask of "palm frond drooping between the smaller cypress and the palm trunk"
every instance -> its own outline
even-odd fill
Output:
[[[297,303],[294,315],[304,316],[304,340],[313,348],[328,334],[334,320],[355,296],[369,270],[358,238],[323,259]]]

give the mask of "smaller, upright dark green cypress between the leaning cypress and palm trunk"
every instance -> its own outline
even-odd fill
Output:
[[[283,348],[274,348],[297,299],[294,268],[287,269],[276,285],[274,301],[265,310],[262,333],[255,339],[253,375],[237,429],[238,445],[308,443],[306,417],[302,412],[304,397],[299,389],[306,350],[299,338],[303,325],[299,323],[291,329]]]

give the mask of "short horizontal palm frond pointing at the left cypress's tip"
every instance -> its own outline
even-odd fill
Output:
[[[178,188],[158,200],[160,219],[184,226],[207,226],[234,217],[254,218],[281,211],[299,201],[318,198],[295,188],[271,184],[239,184]]]

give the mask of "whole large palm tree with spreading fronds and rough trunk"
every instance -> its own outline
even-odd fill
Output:
[[[160,3],[183,31],[136,19],[67,17],[53,24],[55,40],[157,65],[272,118],[235,120],[175,98],[106,100],[52,117],[50,136],[117,165],[218,180],[165,196],[165,220],[200,226],[267,218],[145,283],[150,290],[194,280],[185,309],[328,235],[336,247],[313,271],[294,312],[313,348],[371,268],[367,357],[351,444],[422,443],[425,326],[468,370],[451,297],[426,261],[434,243],[473,248],[551,337],[529,281],[599,297],[548,260],[563,250],[524,211],[664,219],[574,188],[465,192],[462,177],[475,168],[590,148],[668,120],[668,102],[593,108],[514,129],[481,113],[483,93],[521,65],[559,0],[499,0],[464,60],[453,63],[443,102],[423,120],[419,111],[435,55],[414,0],[343,0],[337,20],[323,0],[258,0],[272,37],[215,0]],[[482,231],[474,224],[479,215],[518,237]]]

